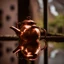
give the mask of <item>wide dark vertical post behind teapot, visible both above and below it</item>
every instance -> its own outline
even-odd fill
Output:
[[[26,17],[30,16],[30,10],[29,10],[30,0],[18,0],[18,21],[23,22]],[[19,52],[19,57],[23,57],[21,52]],[[28,61],[26,59],[19,59],[19,64],[28,64]]]

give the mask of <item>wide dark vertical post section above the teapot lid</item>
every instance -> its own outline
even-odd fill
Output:
[[[27,16],[30,15],[30,0],[18,0],[18,20],[22,22],[26,19]]]

